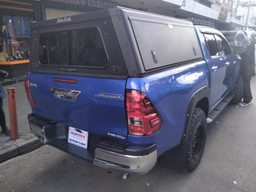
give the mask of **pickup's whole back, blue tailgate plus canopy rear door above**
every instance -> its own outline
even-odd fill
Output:
[[[30,55],[35,116],[127,142],[127,71],[108,11],[33,23]]]

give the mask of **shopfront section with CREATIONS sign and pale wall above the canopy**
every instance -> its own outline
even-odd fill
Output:
[[[118,3],[106,0],[42,0],[41,2],[44,20],[118,6]]]

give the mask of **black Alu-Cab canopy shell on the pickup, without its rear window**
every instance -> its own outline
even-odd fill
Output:
[[[106,23],[108,24],[105,25]],[[40,34],[92,26],[96,26],[101,32],[104,48],[110,58],[106,69],[73,65],[74,69],[70,68],[71,65],[63,65],[62,68],[59,65],[35,65],[39,67],[34,70],[126,78],[127,75],[145,76],[202,59],[192,22],[122,7],[32,23],[31,38],[35,43],[30,48],[38,51],[37,39]],[[31,62],[37,63],[38,53],[32,55]],[[76,71],[63,71],[69,68]]]

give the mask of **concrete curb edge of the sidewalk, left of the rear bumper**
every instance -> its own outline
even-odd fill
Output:
[[[36,137],[29,138],[26,141],[12,145],[3,150],[0,150],[0,163],[7,161],[11,158],[15,158],[19,155],[24,155],[26,153],[32,152],[44,144]]]

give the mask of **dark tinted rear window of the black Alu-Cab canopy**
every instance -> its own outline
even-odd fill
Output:
[[[102,38],[96,27],[41,34],[38,55],[42,65],[107,66]]]

